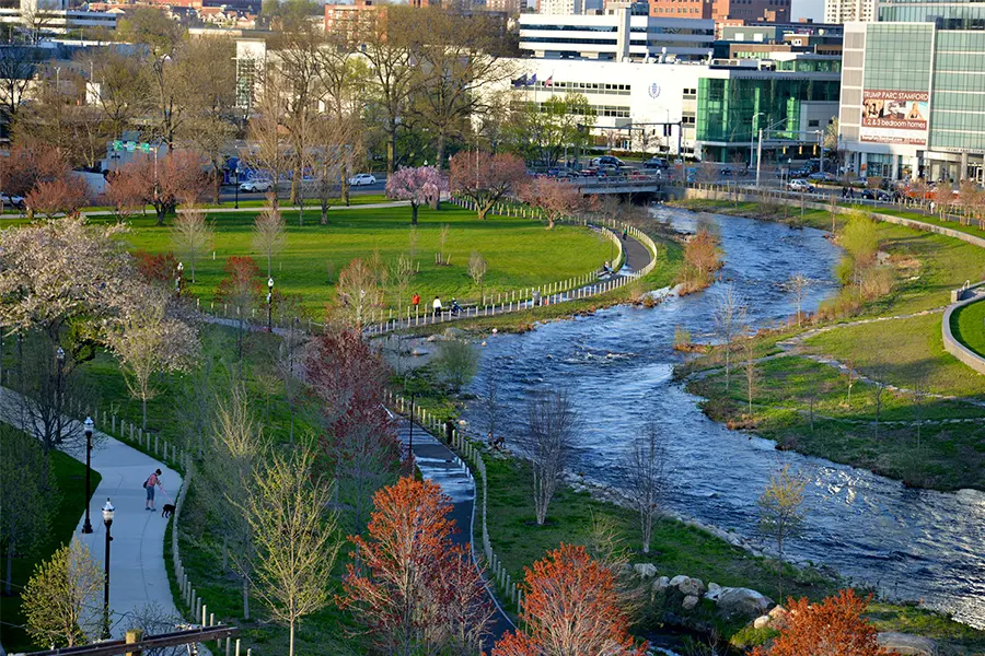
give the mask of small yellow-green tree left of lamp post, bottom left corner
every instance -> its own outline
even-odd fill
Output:
[[[37,644],[78,646],[102,619],[103,571],[89,548],[72,538],[34,572],[22,595],[27,633]]]

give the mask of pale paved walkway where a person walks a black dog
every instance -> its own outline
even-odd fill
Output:
[[[18,403],[18,396],[15,391],[3,388],[0,390],[0,403],[9,409]],[[18,413],[3,414],[4,421],[16,421]],[[173,502],[158,490],[157,512],[144,511],[146,492],[142,484],[152,471],[160,469],[163,472],[161,483],[164,490],[171,499],[175,499],[182,485],[182,477],[163,462],[99,431],[93,438],[99,444],[92,450],[92,468],[103,477],[91,501],[90,522],[93,532],[81,532],[85,517],[82,512],[76,535],[89,547],[102,571],[106,558],[106,527],[101,509],[106,499],[112,500],[116,513],[111,529],[113,542],[109,551],[111,629],[114,637],[124,637],[126,630],[131,628],[134,612],[148,604],[158,605],[162,613],[178,617],[171,597],[167,571],[164,569],[164,529],[169,520],[161,517],[162,506]],[[69,455],[85,462],[84,449]],[[78,490],[61,492],[81,499],[84,484],[80,480]],[[99,597],[102,607],[102,594]]]

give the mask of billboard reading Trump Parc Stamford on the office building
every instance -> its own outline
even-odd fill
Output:
[[[927,145],[930,117],[926,91],[865,90],[859,139],[872,143]]]

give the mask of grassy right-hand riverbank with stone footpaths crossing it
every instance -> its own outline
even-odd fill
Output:
[[[783,220],[769,206],[680,204]],[[835,218],[836,231],[843,221]],[[807,211],[803,222],[832,230],[831,214],[820,210]],[[893,273],[889,293],[851,316],[756,337],[751,407],[744,355],[733,353],[737,371],[728,389],[723,372],[694,377],[721,366],[721,348],[695,358],[679,375],[691,376],[687,389],[707,399],[708,417],[773,440],[778,448],[862,467],[913,487],[983,490],[985,376],[943,350],[938,309],[949,302],[951,289],[981,277],[985,251],[885,223],[877,224],[877,235]],[[819,315],[834,313],[837,304],[836,297],[822,305]]]

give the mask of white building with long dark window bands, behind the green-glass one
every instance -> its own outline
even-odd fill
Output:
[[[627,8],[604,15],[520,15],[520,50],[540,59],[700,59],[714,40],[715,21],[652,19]]]

